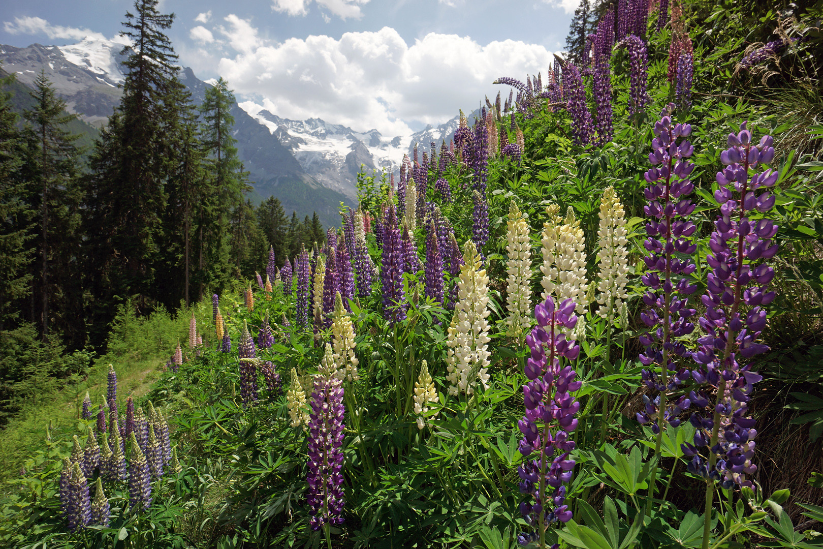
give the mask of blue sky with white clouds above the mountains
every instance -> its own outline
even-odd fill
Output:
[[[2,2],[0,43],[113,38],[133,2]],[[225,77],[250,111],[319,117],[399,135],[508,94],[496,77],[545,74],[577,0],[180,2],[168,32],[180,63]]]

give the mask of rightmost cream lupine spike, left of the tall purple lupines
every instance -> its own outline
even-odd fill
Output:
[[[615,189],[607,187],[600,202],[600,228],[597,230],[597,263],[600,272],[597,277],[597,314],[610,322],[615,312],[621,310],[626,298],[625,285],[629,281],[629,265],[626,263],[625,244],[628,242],[625,227],[625,212]]]

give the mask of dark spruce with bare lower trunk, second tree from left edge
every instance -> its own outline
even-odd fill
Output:
[[[76,145],[81,136],[66,129],[66,124],[78,115],[66,113],[65,100],[55,95],[44,71],[35,80],[35,89],[30,95],[35,105],[23,115],[30,124],[26,132],[30,134],[34,148],[26,164],[32,176],[31,203],[39,211],[40,218],[35,239],[40,256],[40,265],[36,269],[40,281],[35,286],[39,299],[37,314],[33,316],[39,320],[40,336],[45,342],[49,336],[49,318],[53,314],[51,301],[62,298],[62,303],[58,304],[61,310],[55,313],[63,319],[74,316],[67,314],[69,311],[77,313],[72,311],[72,305],[79,305],[77,301],[81,300],[81,289],[77,284],[80,279],[77,228],[81,203],[77,176],[82,151]],[[70,295],[74,296],[73,304],[67,299]]]

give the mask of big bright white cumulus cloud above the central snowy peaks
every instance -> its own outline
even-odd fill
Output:
[[[546,72],[552,62],[552,52],[539,44],[484,45],[437,33],[407,44],[390,27],[348,32],[339,40],[310,35],[270,43],[252,35],[236,45],[230,38],[237,54],[224,55],[217,68],[239,95],[259,98],[256,107],[247,102],[244,108],[289,119],[319,117],[360,131],[377,128],[384,135],[476,109],[485,95],[508,95],[508,87],[491,84],[497,77],[524,79]]]

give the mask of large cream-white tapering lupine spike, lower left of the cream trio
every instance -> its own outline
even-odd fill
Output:
[[[458,279],[459,301],[454,306],[446,341],[449,346],[446,356],[449,374],[446,379],[451,383],[449,394],[453,396],[474,393],[473,386],[477,384],[477,379],[488,388],[491,377],[487,373],[491,364],[487,320],[491,312],[488,307],[489,277],[486,276],[486,269],[481,268],[480,254],[477,254],[471,240],[466,243],[463,261]]]

